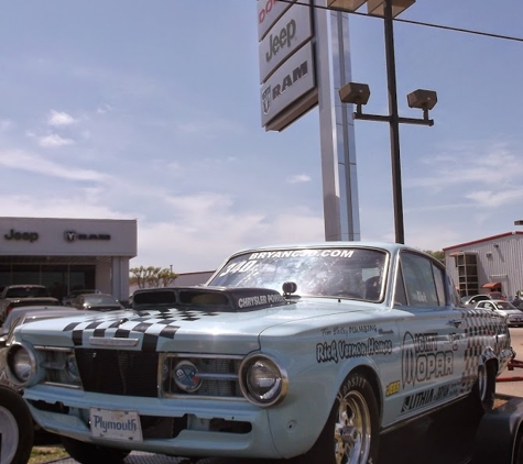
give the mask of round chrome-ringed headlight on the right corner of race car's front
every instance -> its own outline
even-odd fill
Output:
[[[240,388],[250,402],[263,407],[272,406],[281,401],[287,393],[287,374],[268,356],[249,356],[240,366]]]

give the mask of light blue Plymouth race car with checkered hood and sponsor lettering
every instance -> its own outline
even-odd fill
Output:
[[[248,250],[170,308],[26,323],[11,380],[84,464],[176,456],[375,464],[380,434],[493,405],[505,319],[401,244]]]

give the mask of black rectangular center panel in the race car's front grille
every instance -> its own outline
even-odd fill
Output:
[[[85,391],[157,397],[157,353],[77,349],[78,371]]]

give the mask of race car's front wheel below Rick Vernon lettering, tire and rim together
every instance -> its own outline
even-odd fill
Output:
[[[377,464],[379,413],[367,377],[351,373],[339,389],[327,423],[301,464]]]

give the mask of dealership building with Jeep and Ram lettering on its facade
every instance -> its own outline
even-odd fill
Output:
[[[45,285],[62,299],[97,288],[129,297],[137,220],[0,218],[0,287]]]

